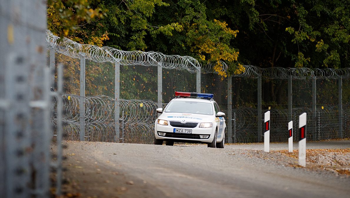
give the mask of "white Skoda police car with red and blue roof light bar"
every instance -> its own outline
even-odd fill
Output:
[[[156,109],[161,115],[154,123],[154,144],[187,142],[224,148],[225,113],[220,112],[213,94],[175,92],[175,96],[164,111]]]

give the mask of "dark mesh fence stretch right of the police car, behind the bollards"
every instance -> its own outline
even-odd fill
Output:
[[[272,142],[287,142],[288,122],[297,129],[303,112],[308,140],[349,137],[349,68],[245,68],[245,73],[229,77],[236,114],[233,142],[261,142],[266,111],[271,112]],[[294,131],[297,141],[299,131]]]

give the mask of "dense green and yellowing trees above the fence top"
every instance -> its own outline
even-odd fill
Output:
[[[50,0],[48,28],[81,43],[206,64],[349,67],[347,0]]]

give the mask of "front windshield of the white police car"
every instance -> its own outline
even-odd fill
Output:
[[[171,101],[167,108],[166,113],[195,113],[203,115],[213,115],[213,107],[208,102],[195,102],[195,101]]]

